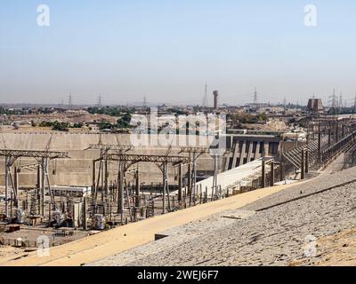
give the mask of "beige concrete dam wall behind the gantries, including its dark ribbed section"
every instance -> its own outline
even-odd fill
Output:
[[[92,185],[93,160],[99,158],[100,150],[85,150],[90,145],[98,144],[100,137],[102,144],[132,145],[130,134],[96,134],[96,133],[65,133],[65,132],[9,132],[2,133],[4,141],[0,139],[0,148],[17,150],[43,151],[53,133],[50,150],[69,152],[69,159],[57,159],[49,162],[52,185]],[[145,138],[150,139],[150,135]],[[193,137],[194,140],[195,137]],[[199,138],[187,141],[185,136],[174,136],[174,141],[187,141],[187,146],[199,146]],[[5,144],[5,145],[4,145]],[[182,144],[181,144],[182,145]],[[219,172],[231,170],[247,162],[252,162],[262,156],[262,148],[266,155],[275,155],[279,151],[279,138],[273,136],[230,135],[226,139],[226,147],[230,152],[219,158]],[[127,154],[166,154],[167,146],[134,146]],[[170,154],[188,155],[180,153],[181,146],[172,146]],[[35,159],[20,158],[14,165],[26,165],[36,162]],[[154,163],[141,162],[139,164],[142,183],[158,185],[162,183],[162,173]],[[187,171],[183,167],[183,176]],[[198,177],[213,175],[214,160],[210,154],[203,154],[197,162]],[[126,180],[133,180],[133,174],[127,173]],[[178,169],[169,165],[168,178],[171,185],[178,185]],[[36,185],[36,170],[21,170],[19,173],[20,186]],[[109,162],[109,181],[117,180],[117,162]],[[0,186],[4,185],[4,157],[0,157]]]

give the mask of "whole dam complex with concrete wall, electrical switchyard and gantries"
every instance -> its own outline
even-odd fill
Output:
[[[7,233],[0,241],[17,246],[27,238],[21,246],[34,248],[38,233],[46,232],[58,246],[88,232],[303,180],[352,151],[356,123],[320,119],[305,134],[226,134],[220,138],[226,148],[213,154],[198,137],[194,146],[134,146],[130,134],[3,132],[0,228]]]

